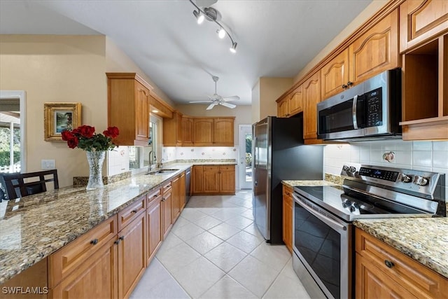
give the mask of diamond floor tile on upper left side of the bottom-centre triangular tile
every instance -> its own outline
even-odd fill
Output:
[[[200,257],[193,263],[172,272],[172,274],[192,298],[199,298],[221,279],[225,272],[207,258]]]

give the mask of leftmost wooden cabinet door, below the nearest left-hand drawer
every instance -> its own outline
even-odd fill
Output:
[[[60,284],[50,289],[49,298],[117,298],[117,249],[115,239],[109,239]]]

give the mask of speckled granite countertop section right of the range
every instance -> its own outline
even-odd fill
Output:
[[[448,218],[363,219],[356,227],[448,278]]]

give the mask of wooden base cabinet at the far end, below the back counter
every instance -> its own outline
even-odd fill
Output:
[[[193,195],[235,194],[235,165],[193,166]]]

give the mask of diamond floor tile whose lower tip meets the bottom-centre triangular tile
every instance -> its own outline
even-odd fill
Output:
[[[237,247],[224,242],[214,249],[211,249],[204,255],[212,263],[220,267],[223,271],[229,272],[232,267],[235,267],[243,258],[247,256],[247,253],[237,249]]]

